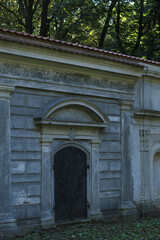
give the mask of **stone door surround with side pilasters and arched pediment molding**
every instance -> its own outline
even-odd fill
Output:
[[[49,116],[54,114],[57,109],[69,105],[83,106],[86,111],[92,112],[98,117],[98,123],[88,122],[63,122],[54,121]],[[107,127],[108,118],[101,110],[93,104],[81,99],[69,99],[54,103],[48,107],[47,112],[37,114],[36,124],[41,126],[41,146],[42,146],[42,188],[41,188],[41,226],[47,228],[55,223],[55,214],[53,212],[54,203],[54,172],[53,156],[57,149],[66,144],[79,146],[85,152],[88,152],[89,173],[87,178],[87,200],[90,203],[87,217],[100,218],[100,184],[99,184],[99,129]]]

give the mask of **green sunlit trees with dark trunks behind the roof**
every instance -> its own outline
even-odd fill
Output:
[[[1,0],[0,27],[160,61],[159,0]]]

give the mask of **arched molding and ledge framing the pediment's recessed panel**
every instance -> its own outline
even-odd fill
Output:
[[[54,118],[54,114],[56,111],[63,111],[63,109],[67,107],[75,107],[77,109],[83,108],[88,115],[92,115],[94,121],[81,121],[81,120],[66,120],[64,119],[56,119]],[[51,106],[46,107],[47,110],[42,110],[38,112],[35,116],[36,124],[45,124],[45,125],[61,125],[61,126],[77,126],[77,127],[97,127],[104,128],[109,124],[109,119],[105,114],[94,106],[92,103],[81,100],[81,99],[65,99],[65,100],[57,100]],[[72,109],[73,111],[73,109]],[[73,113],[74,114],[74,113]]]

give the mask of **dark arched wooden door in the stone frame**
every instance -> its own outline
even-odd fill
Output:
[[[87,217],[87,156],[76,147],[55,154],[55,220],[73,221]]]

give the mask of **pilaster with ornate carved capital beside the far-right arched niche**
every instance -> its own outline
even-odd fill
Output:
[[[151,169],[149,163],[149,137],[150,130],[139,130],[140,151],[141,151],[141,213],[143,215],[153,212],[151,199],[150,176]]]

